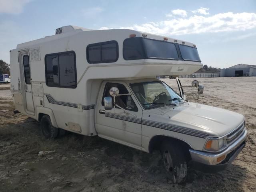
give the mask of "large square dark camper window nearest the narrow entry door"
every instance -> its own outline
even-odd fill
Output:
[[[74,51],[45,56],[46,84],[49,87],[76,88],[76,54]]]

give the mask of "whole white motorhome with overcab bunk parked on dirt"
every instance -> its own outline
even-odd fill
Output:
[[[156,76],[202,67],[195,44],[127,29],[64,26],[10,51],[16,109],[42,134],[99,136],[151,153],[160,150],[174,182],[192,161],[225,168],[244,148],[244,116],[188,102]],[[203,86],[198,85],[202,93]],[[208,169],[207,168],[207,169]]]

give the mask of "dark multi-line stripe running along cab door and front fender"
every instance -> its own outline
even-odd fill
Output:
[[[124,121],[129,121],[129,122],[133,122],[133,123],[146,125],[146,126],[169,130],[169,131],[177,132],[177,133],[181,133],[181,134],[191,135],[191,136],[199,137],[199,138],[206,138],[208,136],[212,136],[211,134],[208,134],[206,132],[192,130],[192,129],[186,128],[186,127],[176,126],[176,125],[172,125],[172,124],[165,124],[165,123],[160,123],[160,122],[155,122],[155,121],[150,121],[150,120],[143,120],[143,119],[141,120],[140,118],[135,118],[135,117],[128,117],[128,116],[118,115],[118,114],[113,114],[113,113],[106,113],[105,116],[109,117],[109,118],[115,118],[115,119],[119,119],[119,120],[124,120]]]

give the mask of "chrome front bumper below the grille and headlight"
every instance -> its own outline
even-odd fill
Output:
[[[226,148],[226,150],[222,152],[211,153],[190,149],[190,156],[194,162],[198,162],[200,164],[206,164],[211,166],[220,164],[221,162],[225,162],[222,164],[230,164],[244,148],[246,138],[247,130],[244,131],[244,133],[238,138],[238,140],[236,140],[228,148]],[[223,155],[225,155],[225,158],[222,161],[217,162],[217,159],[222,157]]]

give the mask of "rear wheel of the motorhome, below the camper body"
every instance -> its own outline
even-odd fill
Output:
[[[59,129],[52,126],[51,119],[48,115],[42,116],[40,127],[42,134],[46,139],[56,138],[58,136]]]

